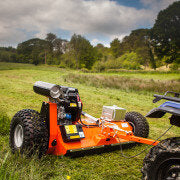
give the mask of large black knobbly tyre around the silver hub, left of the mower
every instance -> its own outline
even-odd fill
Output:
[[[23,129],[22,145],[17,147],[14,142],[15,128],[17,125]],[[12,153],[33,155],[41,157],[48,149],[49,135],[46,122],[40,114],[32,109],[18,111],[11,120],[9,144]]]

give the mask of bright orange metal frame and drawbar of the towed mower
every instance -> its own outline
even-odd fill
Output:
[[[125,131],[132,131],[132,127],[126,122],[127,127],[123,127],[124,121],[113,122]],[[87,123],[86,123],[87,124]],[[108,122],[107,122],[108,125]],[[114,131],[112,128],[105,127],[83,127],[85,138],[79,141],[64,142],[61,136],[59,125],[57,124],[57,104],[49,102],[49,148],[47,154],[65,155],[68,151],[84,150],[86,148],[101,147],[127,142],[139,142],[149,145],[157,145],[159,141],[134,136],[133,133]],[[52,146],[56,140],[57,144]]]

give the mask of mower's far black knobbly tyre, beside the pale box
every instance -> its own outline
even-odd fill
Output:
[[[147,138],[149,135],[149,124],[146,118],[138,112],[127,112],[125,120],[132,126],[135,136]]]

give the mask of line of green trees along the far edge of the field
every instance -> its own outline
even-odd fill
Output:
[[[91,45],[89,40],[74,34],[70,41],[48,33],[45,39],[33,38],[17,48],[0,47],[0,61],[58,65],[63,68],[156,69],[180,65],[180,1],[159,12],[151,29],[133,30],[121,41],[115,38],[110,47]]]

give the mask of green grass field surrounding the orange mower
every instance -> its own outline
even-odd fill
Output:
[[[11,154],[8,145],[10,119],[21,109],[39,111],[42,101],[46,100],[33,92],[33,84],[39,80],[78,88],[84,111],[95,117],[100,117],[103,105],[117,105],[127,111],[138,111],[145,115],[150,109],[161,104],[152,103],[153,94],[163,93],[163,90],[167,89],[180,91],[178,72],[87,74],[58,67],[0,63],[0,179],[141,178],[140,169],[147,151],[132,159],[124,158],[120,150],[92,153],[78,158],[47,155],[38,159],[36,156],[25,158]],[[148,122],[149,137],[153,139],[170,126],[168,115],[159,120],[148,119]],[[173,127],[162,139],[179,135],[179,129]],[[146,147],[133,146],[123,149],[123,152],[132,156]]]

